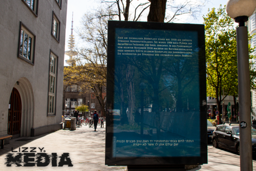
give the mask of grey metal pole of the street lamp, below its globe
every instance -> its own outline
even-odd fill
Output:
[[[250,72],[247,27],[237,28],[240,170],[252,171],[251,115],[250,115]],[[246,123],[241,127],[241,122]]]

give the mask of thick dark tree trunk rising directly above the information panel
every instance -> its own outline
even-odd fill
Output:
[[[167,0],[151,0],[147,21],[164,22]]]

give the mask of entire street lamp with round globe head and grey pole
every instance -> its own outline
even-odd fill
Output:
[[[240,170],[252,171],[251,115],[250,115],[250,72],[248,53],[248,30],[245,22],[256,8],[255,0],[228,0],[227,13],[236,22],[238,55]]]

